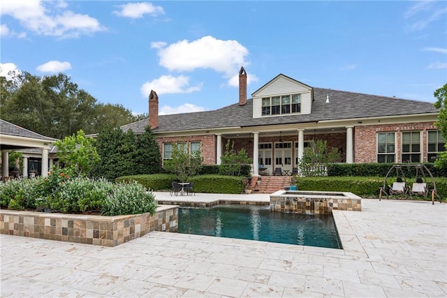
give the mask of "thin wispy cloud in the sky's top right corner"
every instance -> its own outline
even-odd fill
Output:
[[[442,16],[446,13],[444,1],[418,1],[406,10],[404,17],[410,22],[409,31],[418,31],[425,29],[432,22],[443,20]]]

